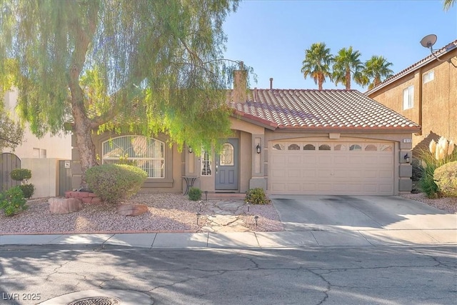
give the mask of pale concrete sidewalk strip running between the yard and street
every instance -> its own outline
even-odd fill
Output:
[[[328,231],[0,235],[0,246],[7,245],[126,246],[146,249],[457,245],[457,230],[350,231],[335,228]]]

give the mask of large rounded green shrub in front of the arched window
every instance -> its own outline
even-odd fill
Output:
[[[136,194],[146,178],[146,171],[126,164],[103,164],[86,171],[89,189],[111,203]]]

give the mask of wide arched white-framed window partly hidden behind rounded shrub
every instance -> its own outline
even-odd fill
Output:
[[[148,178],[165,178],[165,144],[146,136],[119,136],[101,144],[102,164],[138,166]]]

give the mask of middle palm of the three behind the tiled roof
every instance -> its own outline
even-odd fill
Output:
[[[338,51],[338,55],[334,57],[332,74],[333,81],[335,81],[336,85],[341,83],[346,86],[346,90],[350,90],[352,78],[357,84],[363,84],[360,75],[363,70],[363,64],[358,59],[360,56],[360,52],[353,51],[352,46],[349,46],[348,49],[343,48]]]

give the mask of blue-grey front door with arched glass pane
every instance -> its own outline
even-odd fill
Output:
[[[216,154],[216,191],[238,189],[238,139],[229,139]]]

